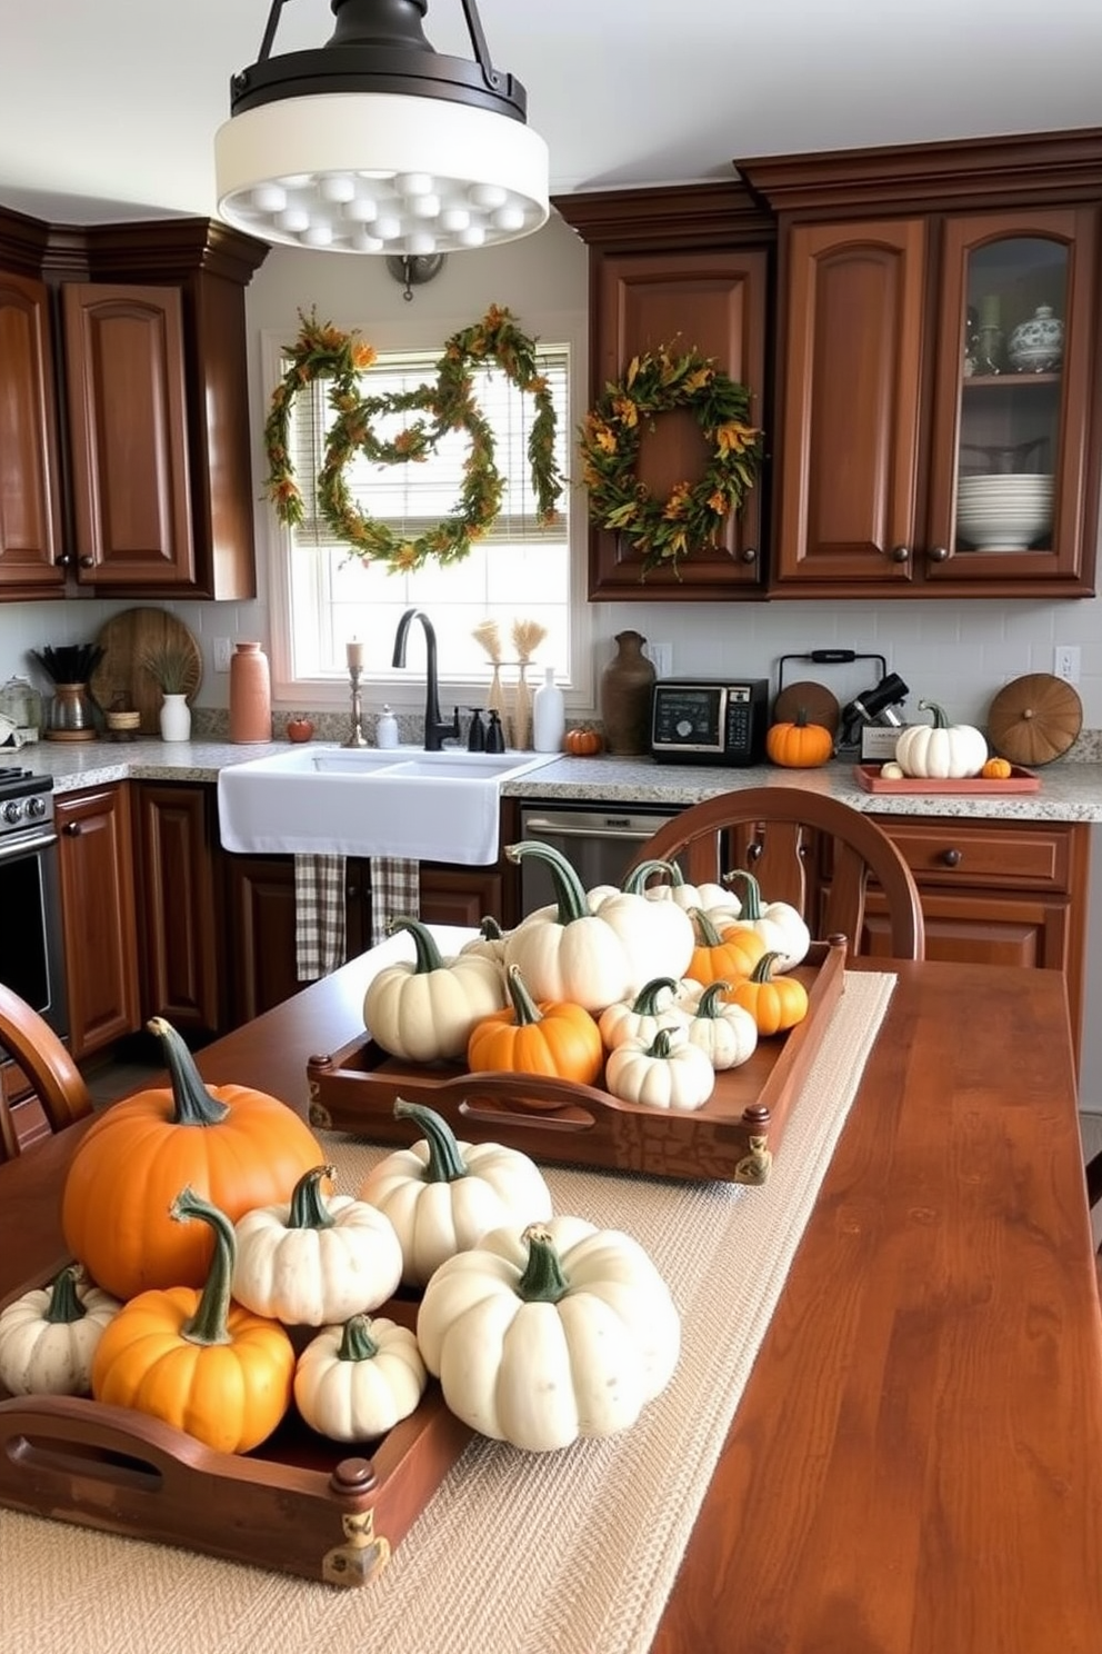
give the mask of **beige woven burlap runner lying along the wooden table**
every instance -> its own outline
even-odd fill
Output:
[[[846,973],[765,1188],[547,1171],[558,1211],[636,1236],[681,1310],[674,1379],[633,1429],[542,1456],[476,1439],[352,1591],[2,1510],[3,1654],[643,1654],[894,982]],[[383,1153],[329,1146],[342,1188]]]

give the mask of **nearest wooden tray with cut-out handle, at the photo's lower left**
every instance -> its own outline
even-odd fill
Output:
[[[378,1313],[413,1327],[416,1303]],[[251,1454],[131,1408],[15,1396],[0,1401],[0,1505],[357,1586],[378,1578],[471,1434],[433,1381],[378,1441],[330,1442],[292,1413]]]

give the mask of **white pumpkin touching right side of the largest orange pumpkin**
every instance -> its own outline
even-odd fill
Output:
[[[401,1244],[367,1201],[324,1196],[332,1166],[299,1178],[289,1201],[254,1206],[235,1224],[231,1292],[284,1327],[324,1327],[385,1303],[401,1280]]]

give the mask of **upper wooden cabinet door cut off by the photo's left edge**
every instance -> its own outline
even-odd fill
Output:
[[[0,261],[3,260],[0,245]],[[0,595],[64,586],[50,294],[0,268]]]

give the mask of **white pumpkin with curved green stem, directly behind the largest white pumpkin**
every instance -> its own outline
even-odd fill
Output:
[[[378,1206],[401,1244],[401,1279],[423,1287],[454,1252],[476,1245],[487,1229],[550,1217],[544,1174],[520,1150],[501,1143],[459,1143],[435,1110],[395,1103],[425,1136],[387,1154],[368,1171],[360,1199]]]

